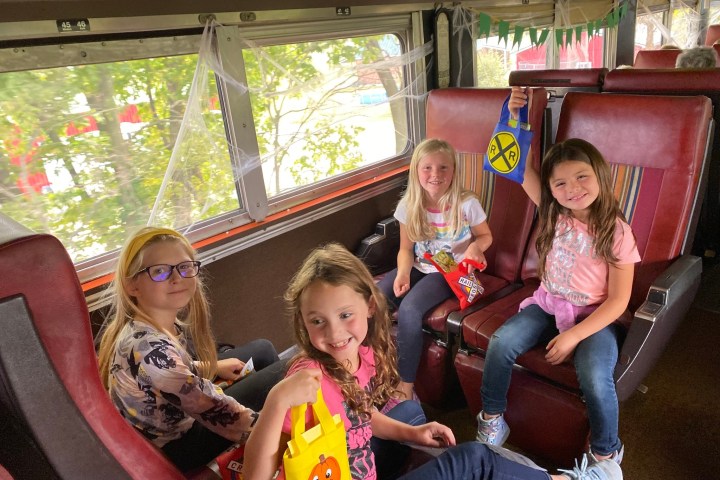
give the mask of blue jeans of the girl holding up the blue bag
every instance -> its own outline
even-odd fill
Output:
[[[613,372],[618,358],[618,331],[610,324],[578,343],[575,371],[588,409],[590,446],[598,455],[620,448],[619,408]],[[490,339],[485,356],[482,388],[483,410],[498,414],[507,407],[512,367],[518,356],[555,336],[555,317],[537,305],[513,315]]]

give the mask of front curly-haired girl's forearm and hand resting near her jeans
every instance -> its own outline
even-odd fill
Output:
[[[414,443],[425,447],[451,447],[455,445],[452,430],[437,422],[408,425],[378,411],[372,415],[373,435],[386,440]]]

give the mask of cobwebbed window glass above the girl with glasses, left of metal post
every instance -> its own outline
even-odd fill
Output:
[[[0,74],[0,211],[57,236],[79,262],[145,225],[161,186],[158,225],[238,209],[227,149],[190,140],[168,169],[196,63],[183,55]],[[214,77],[207,85],[214,94],[201,115],[224,138]]]

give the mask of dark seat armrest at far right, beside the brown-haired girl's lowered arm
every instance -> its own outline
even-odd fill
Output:
[[[702,260],[683,255],[650,286],[633,316],[615,367],[618,400],[630,397],[657,363],[700,288]]]

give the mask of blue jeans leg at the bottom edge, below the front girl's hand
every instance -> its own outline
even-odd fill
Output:
[[[381,477],[378,477],[381,478]],[[550,475],[508,460],[478,442],[448,448],[445,453],[400,480],[548,480]]]

